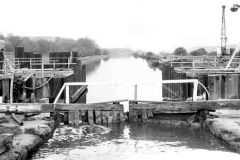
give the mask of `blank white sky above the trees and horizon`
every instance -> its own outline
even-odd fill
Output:
[[[101,48],[171,52],[217,46],[222,5],[228,44],[240,42],[239,0],[0,0],[0,33],[89,37]],[[239,36],[239,37],[238,37]]]

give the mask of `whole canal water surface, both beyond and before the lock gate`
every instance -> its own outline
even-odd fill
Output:
[[[143,59],[110,58],[86,66],[87,82],[122,82],[122,85],[89,86],[87,103],[133,99],[129,82],[157,82],[161,71]],[[141,85],[138,99],[159,100],[157,85]],[[125,108],[127,110],[127,108]],[[239,159],[222,141],[203,128],[148,123],[108,126],[60,126],[31,160],[78,159]]]

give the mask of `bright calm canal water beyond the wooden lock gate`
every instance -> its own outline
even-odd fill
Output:
[[[158,82],[162,77],[159,69],[152,69],[146,60],[126,56],[110,58],[86,66],[87,82],[119,83],[122,85],[89,86],[87,103],[120,99],[134,99],[134,85],[129,83]],[[160,100],[159,85],[138,85],[138,100]],[[124,108],[127,111],[128,108]]]

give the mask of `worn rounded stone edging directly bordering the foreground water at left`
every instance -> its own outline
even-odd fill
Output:
[[[54,121],[44,120],[46,114],[37,115],[23,121],[23,126],[11,122],[6,127],[19,127],[22,133],[14,136],[12,148],[0,155],[1,160],[26,160],[27,156],[49,139],[55,129]]]

